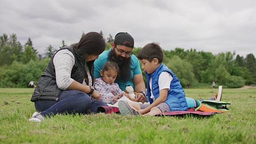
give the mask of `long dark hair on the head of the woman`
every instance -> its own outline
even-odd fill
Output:
[[[98,32],[88,32],[73,46],[81,55],[100,55],[106,48],[106,39]]]

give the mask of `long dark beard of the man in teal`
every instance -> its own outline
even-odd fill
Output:
[[[108,54],[108,60],[112,62],[116,62],[118,67],[119,67],[119,74],[117,79],[118,80],[129,80],[131,76],[131,57],[122,57],[122,56],[117,56],[116,52],[112,49],[110,50]]]

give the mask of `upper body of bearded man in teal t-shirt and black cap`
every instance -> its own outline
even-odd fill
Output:
[[[137,92],[136,102],[145,102],[145,84],[140,70],[140,63],[135,55],[132,54],[134,39],[127,32],[116,34],[114,42],[111,42],[111,49],[100,54],[94,62],[94,80],[100,78],[100,70],[108,60],[116,62],[119,66],[119,76],[115,82],[121,90],[125,90],[130,85]]]

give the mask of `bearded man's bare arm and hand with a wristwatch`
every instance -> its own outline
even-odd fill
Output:
[[[137,94],[135,95],[135,101],[142,102],[142,103],[145,102],[146,98],[142,93],[139,93],[141,91],[143,92],[146,91],[142,74],[136,74],[133,76],[133,84],[134,84],[134,91],[137,92]]]

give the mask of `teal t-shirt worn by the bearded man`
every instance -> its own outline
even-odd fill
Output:
[[[94,61],[94,78],[100,78],[102,76],[100,76],[100,70],[102,69],[103,64],[105,64],[105,62],[108,61],[108,54],[110,52],[109,49],[107,51],[102,52],[102,54],[100,54],[99,58],[96,59]],[[131,77],[129,78],[129,80],[126,81],[120,81],[120,80],[115,80],[115,82],[118,84],[118,86],[120,87],[121,90],[125,90],[127,85],[131,85],[134,88],[134,84],[133,84],[133,76],[137,75],[137,74],[141,74],[141,70],[140,70],[140,63],[138,58],[135,55],[131,56]]]

